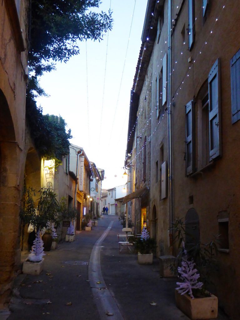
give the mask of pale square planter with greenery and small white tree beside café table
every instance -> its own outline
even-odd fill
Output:
[[[138,238],[135,243],[135,250],[138,252],[138,263],[152,264],[153,251],[155,247],[156,247],[155,239],[150,238],[147,228],[143,227],[141,237]]]

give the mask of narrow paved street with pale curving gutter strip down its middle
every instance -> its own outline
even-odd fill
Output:
[[[39,276],[17,277],[8,319],[187,320],[175,306],[176,279],[160,277],[158,259],[139,265],[135,254],[119,254],[120,231],[118,217],[105,215],[75,242],[45,252]],[[228,318],[220,313],[217,319]]]

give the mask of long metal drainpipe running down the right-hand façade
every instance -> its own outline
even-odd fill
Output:
[[[168,186],[169,186],[169,227],[173,223],[173,186],[172,186],[172,103],[171,103],[171,70],[172,70],[172,0],[168,0],[168,79],[167,79],[167,119],[168,119]],[[172,231],[169,231],[169,244],[172,246]]]

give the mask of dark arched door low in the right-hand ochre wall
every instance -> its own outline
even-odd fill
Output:
[[[199,217],[194,208],[188,210],[185,216],[185,243],[189,248],[199,242]]]

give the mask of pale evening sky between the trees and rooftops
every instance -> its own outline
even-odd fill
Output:
[[[147,2],[111,0],[114,24],[109,35],[106,34],[100,43],[91,40],[80,43],[78,56],[66,64],[58,63],[56,71],[46,73],[40,80],[50,96],[39,97],[38,105],[43,107],[44,114],[62,116],[72,131],[70,142],[83,147],[88,159],[105,170],[103,188],[125,183],[122,176],[130,92]],[[110,0],[102,0],[100,10],[108,11],[109,5]]]

